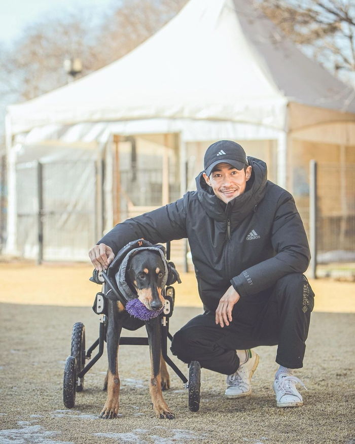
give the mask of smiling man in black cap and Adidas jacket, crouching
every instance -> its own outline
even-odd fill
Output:
[[[266,164],[232,141],[212,144],[197,191],[106,234],[89,256],[107,268],[127,242],[187,237],[204,314],[173,337],[181,360],[227,375],[225,395],[251,393],[257,346],[278,345],[273,389],[278,407],[303,404],[301,368],[314,293],[302,273],[309,248],[293,197],[267,180]]]

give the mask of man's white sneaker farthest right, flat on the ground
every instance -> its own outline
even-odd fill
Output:
[[[296,384],[300,384],[306,389],[303,382],[292,374],[279,373],[276,375],[273,389],[277,407],[300,407],[303,405],[303,399],[296,389]]]

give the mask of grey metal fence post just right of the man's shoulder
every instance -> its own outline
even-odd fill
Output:
[[[309,161],[309,246],[311,252],[311,278],[317,274],[317,162]]]

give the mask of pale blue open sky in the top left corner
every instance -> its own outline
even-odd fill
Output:
[[[0,42],[11,44],[23,29],[41,16],[78,7],[106,9],[119,0],[0,0]]]

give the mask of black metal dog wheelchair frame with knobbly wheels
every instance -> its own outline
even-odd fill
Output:
[[[170,256],[170,243],[167,243],[166,257]],[[94,271],[95,273],[95,271]],[[104,275],[104,272],[103,272]],[[102,282],[102,291],[96,294],[94,310],[99,316],[99,337],[95,342],[85,350],[85,326],[81,322],[77,322],[72,330],[72,343],[70,348],[70,356],[66,358],[64,366],[63,378],[63,402],[65,407],[72,408],[75,406],[76,392],[84,389],[84,376],[90,368],[100,359],[103,354],[104,341],[106,340],[106,331],[108,318],[102,312],[104,311],[104,285],[109,283],[106,276],[99,277]],[[180,371],[174,362],[167,355],[167,340],[172,340],[169,332],[169,318],[173,312],[175,299],[175,290],[172,286],[167,286],[163,292],[165,303],[163,313],[159,316],[161,323],[161,352],[165,362],[172,368],[177,376],[182,380],[184,387],[189,391],[189,409],[191,412],[197,412],[200,407],[200,364],[198,361],[191,361],[189,364],[189,380]],[[121,336],[119,345],[140,345],[148,346],[148,337],[130,337]],[[91,358],[92,352],[97,348],[97,354]],[[85,365],[86,360],[88,363]]]

